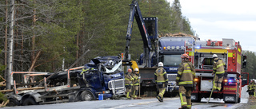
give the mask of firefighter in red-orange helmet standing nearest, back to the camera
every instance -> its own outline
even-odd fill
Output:
[[[194,64],[188,60],[189,56],[182,54],[182,64],[178,67],[178,75],[176,83],[179,86],[178,93],[181,99],[182,107],[179,109],[191,109],[191,91],[193,88],[193,80],[195,76]]]

